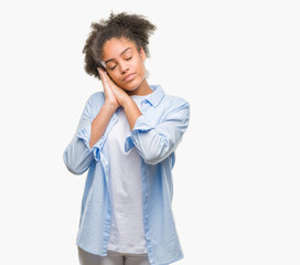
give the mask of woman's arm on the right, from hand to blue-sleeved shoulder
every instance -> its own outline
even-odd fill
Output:
[[[163,112],[161,123],[152,126],[151,114],[141,115],[138,106],[128,94],[118,87],[105,74],[107,85],[114,92],[119,104],[125,108],[132,135],[126,141],[126,150],[133,145],[144,162],[156,165],[170,156],[182,140],[190,120],[190,105],[176,98]]]

